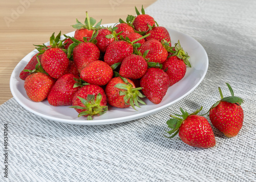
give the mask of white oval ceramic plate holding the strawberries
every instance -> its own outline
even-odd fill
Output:
[[[208,69],[208,57],[206,51],[198,41],[181,32],[171,29],[167,30],[170,34],[173,45],[180,40],[181,46],[190,56],[190,63],[192,67],[187,68],[187,72],[180,82],[176,83],[172,87],[169,87],[162,102],[158,105],[154,105],[151,101],[145,99],[144,101],[146,102],[146,106],[143,105],[141,108],[137,108],[138,111],[135,111],[131,107],[126,109],[109,107],[108,112],[102,116],[94,117],[92,121],[89,121],[86,120],[86,117],[78,118],[78,113],[68,106],[54,107],[49,105],[47,100],[34,102],[27,97],[24,89],[24,81],[19,79],[19,73],[24,69],[32,56],[37,53],[36,49],[25,56],[14,68],[10,79],[10,89],[12,95],[17,102],[28,111],[50,120],[69,124],[112,124],[131,121],[155,114],[172,106],[174,103],[191,93],[202,82]],[[67,35],[73,36],[74,32]]]

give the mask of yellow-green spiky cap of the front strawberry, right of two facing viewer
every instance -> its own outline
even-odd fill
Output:
[[[135,106],[140,108],[139,103],[141,103],[142,105],[146,105],[146,103],[140,99],[140,98],[145,97],[145,95],[143,95],[139,91],[142,89],[142,87],[133,88],[133,85],[130,84],[127,81],[127,79],[125,79],[124,77],[122,77],[120,75],[119,75],[119,77],[122,79],[124,84],[119,83],[119,84],[116,84],[114,87],[120,89],[120,91],[119,91],[120,96],[124,95],[123,100],[124,100],[125,104],[131,105],[134,110],[136,110]]]

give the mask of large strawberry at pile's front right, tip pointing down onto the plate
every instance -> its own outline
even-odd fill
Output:
[[[167,92],[169,77],[160,68],[148,68],[140,79],[140,86],[144,95],[151,102],[158,104]]]

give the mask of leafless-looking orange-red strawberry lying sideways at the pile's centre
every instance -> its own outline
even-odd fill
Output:
[[[113,70],[103,61],[93,61],[82,69],[80,77],[89,84],[103,86],[112,79]]]

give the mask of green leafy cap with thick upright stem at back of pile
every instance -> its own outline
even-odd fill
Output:
[[[84,24],[78,21],[76,18],[76,24],[71,25],[74,29],[88,29],[88,30],[95,30],[100,28],[101,20],[94,26],[96,20],[92,17],[89,18],[88,12],[86,12],[86,19],[84,20]],[[93,27],[94,26],[94,27]]]

